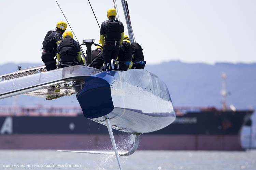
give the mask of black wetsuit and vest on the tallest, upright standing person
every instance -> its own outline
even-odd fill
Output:
[[[124,32],[123,23],[113,18],[101,24],[100,35],[104,35],[103,58],[105,65],[110,66],[112,59],[117,59],[119,53],[119,41]]]

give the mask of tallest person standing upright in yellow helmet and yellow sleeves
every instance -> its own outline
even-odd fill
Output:
[[[116,20],[116,10],[110,8],[107,11],[109,20],[102,22],[100,28],[100,41],[103,45],[104,70],[109,70],[111,59],[117,59],[119,46],[124,40],[123,23]]]

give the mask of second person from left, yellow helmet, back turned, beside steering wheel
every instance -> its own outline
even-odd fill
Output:
[[[57,47],[57,60],[59,62],[58,68],[82,65],[80,63],[81,49],[77,41],[73,39],[71,31],[63,33],[63,39]]]

